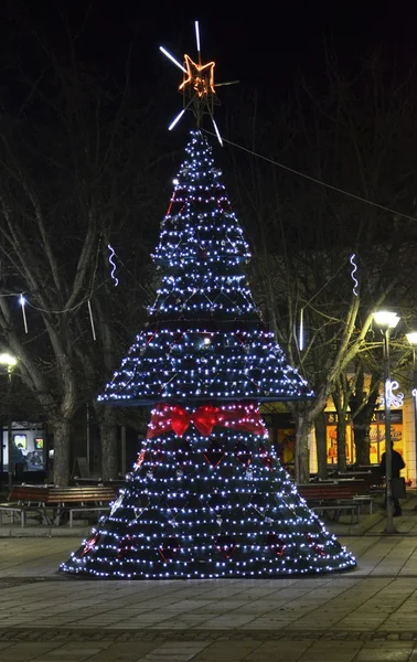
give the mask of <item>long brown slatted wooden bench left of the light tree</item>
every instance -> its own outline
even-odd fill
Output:
[[[57,526],[64,513],[70,514],[70,526],[76,512],[103,512],[109,509],[117,489],[110,485],[83,485],[58,488],[55,485],[15,485],[9,494],[9,503],[0,506],[14,516],[21,514],[22,526],[25,524],[25,513],[29,510],[40,512],[44,523]],[[47,506],[53,508],[53,517],[47,515]]]

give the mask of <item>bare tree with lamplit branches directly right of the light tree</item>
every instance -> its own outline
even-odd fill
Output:
[[[291,170],[257,156],[236,168],[245,225],[254,227],[256,299],[289,362],[316,392],[312,403],[288,404],[300,482],[309,477],[308,434],[352,361],[368,348],[372,310],[392,303],[394,295],[404,302],[415,273],[415,223],[402,218],[398,232],[397,214],[366,204],[410,216],[414,211],[415,83],[409,77],[402,86],[393,77],[384,85],[385,75],[377,58],[348,77],[329,57],[325,90],[304,86],[307,96],[295,93],[289,103],[292,111],[278,113],[274,122],[258,118],[260,136],[268,126],[269,139],[254,138],[255,151]]]

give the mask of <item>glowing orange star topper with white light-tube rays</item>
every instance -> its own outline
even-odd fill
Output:
[[[202,64],[201,61],[201,49],[200,49],[200,28],[199,21],[195,21],[195,42],[199,54],[199,62],[194,62],[190,55],[184,55],[184,65],[182,65],[171,53],[169,53],[163,46],[160,46],[160,51],[171,62],[173,62],[184,74],[183,82],[179,87],[179,92],[183,94],[184,107],[181,113],[172,120],[168,130],[171,131],[174,126],[180,121],[185,110],[191,108],[195,115],[196,124],[200,127],[203,115],[210,115],[214,130],[216,132],[218,142],[223,145],[222,137],[220,135],[217,125],[214,120],[214,104],[220,104],[218,97],[214,87],[214,62],[207,62]],[[217,83],[217,87],[221,85],[233,85],[237,81],[229,83]]]

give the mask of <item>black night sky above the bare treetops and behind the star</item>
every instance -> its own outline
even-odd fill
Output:
[[[180,60],[184,53],[195,55],[195,19],[200,21],[203,61],[216,62],[216,82],[240,82],[238,92],[218,89],[221,115],[226,107],[234,111],[239,94],[254,90],[268,99],[266,108],[274,107],[288,96],[300,73],[320,84],[324,77],[324,44],[335,50],[348,74],[375,47],[383,51],[388,71],[396,67],[407,72],[416,62],[417,10],[414,3],[403,0],[223,0],[200,4],[168,0],[3,0],[1,92],[13,86],[14,74],[8,78],[6,72],[9,62],[18,60],[23,70],[35,66],[32,50],[38,35],[46,39],[57,58],[68,57],[63,15],[68,17],[70,29],[77,35],[77,56],[104,76],[124,77],[126,54],[132,44],[131,76],[138,104],[148,97],[161,98],[169,106],[167,121],[181,105],[177,94],[181,72],[164,58],[159,46],[164,45]]]

